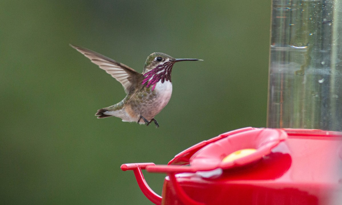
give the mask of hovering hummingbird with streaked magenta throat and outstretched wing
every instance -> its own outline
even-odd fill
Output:
[[[142,73],[89,49],[71,45],[89,58],[92,63],[119,81],[126,97],[115,105],[97,110],[97,118],[115,116],[123,122],[137,122],[147,126],[169,102],[172,93],[171,71],[179,61],[199,60],[195,58],[173,58],[164,53],[152,53],[146,59]]]

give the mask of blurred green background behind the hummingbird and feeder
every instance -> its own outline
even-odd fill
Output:
[[[0,2],[0,204],[152,204],[120,165],[166,164],[221,133],[266,125],[270,1]],[[125,96],[68,44],[141,72],[173,67],[160,128],[96,119]],[[161,194],[163,174],[145,173]]]

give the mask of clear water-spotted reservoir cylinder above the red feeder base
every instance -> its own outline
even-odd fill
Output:
[[[342,0],[273,0],[267,127],[342,131]]]

